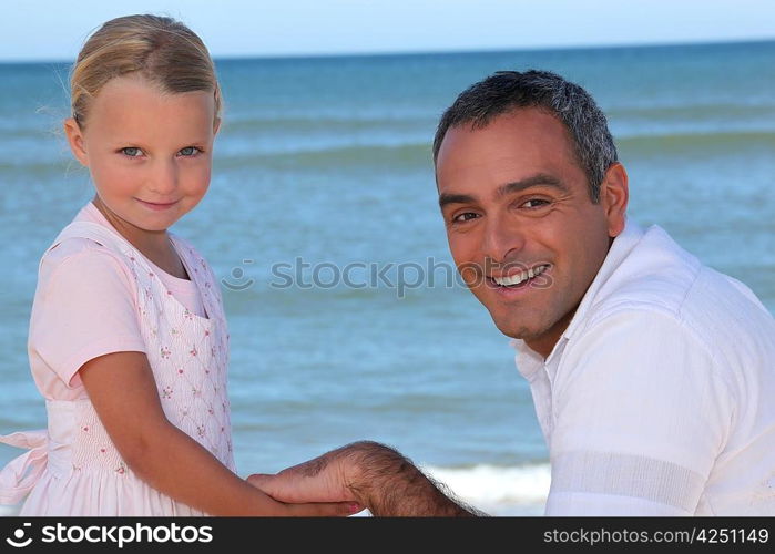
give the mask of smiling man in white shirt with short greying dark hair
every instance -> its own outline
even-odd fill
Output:
[[[447,110],[434,157],[452,257],[530,382],[545,513],[775,514],[775,320],[628,219],[628,176],[590,95],[499,72]],[[249,481],[375,515],[478,514],[374,442]]]

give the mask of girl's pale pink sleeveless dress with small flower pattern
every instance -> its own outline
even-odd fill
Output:
[[[226,391],[228,335],[217,280],[188,243],[170,234],[198,289],[206,317],[195,314],[167,287],[171,276],[161,278],[161,270],[104,219],[100,224],[93,217],[92,220],[83,217],[86,211],[93,213],[95,208],[93,205],[84,208],[57,237],[43,259],[68,240],[86,238],[96,243],[92,243],[94,247],[106,249],[116,263],[120,274],[116,279],[124,279],[132,288],[126,290],[128,299],[119,301],[130,302],[134,321],[122,325],[130,329],[134,326],[139,336],[122,334],[126,336],[111,338],[110,343],[98,340],[96,346],[92,343],[89,349],[72,355],[52,353],[51,359],[65,360],[59,367],[40,369],[47,366],[34,358],[32,372],[45,398],[48,429],[0,435],[0,442],[29,449],[0,471],[0,503],[18,504],[26,499],[22,516],[206,515],[151,488],[126,466],[85,394],[78,368],[88,359],[110,351],[144,351],[167,419],[235,471]],[[45,301],[39,280],[35,302]],[[113,311],[105,316],[108,327],[118,325],[111,318],[121,319]],[[33,316],[34,312],[33,308]],[[47,330],[65,337],[77,332],[68,324],[67,318],[52,320],[48,327],[53,329]],[[73,320],[77,330],[79,325]],[[39,355],[32,340],[34,327],[31,325],[31,359],[33,351]],[[40,339],[41,345],[45,342],[44,338]],[[141,417],[128,413],[126,424]]]

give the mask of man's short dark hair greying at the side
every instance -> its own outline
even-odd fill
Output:
[[[483,129],[499,115],[520,107],[545,110],[565,125],[587,174],[590,197],[598,203],[605,172],[618,161],[605,114],[584,89],[549,71],[498,71],[461,92],[439,121],[434,164],[451,127],[470,124]]]

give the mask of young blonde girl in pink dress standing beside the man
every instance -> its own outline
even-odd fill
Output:
[[[167,228],[210,184],[221,92],[169,18],[104,23],[72,71],[70,147],[95,196],[43,255],[29,353],[48,430],[0,472],[21,515],[347,515],[234,473],[228,335],[207,263]]]

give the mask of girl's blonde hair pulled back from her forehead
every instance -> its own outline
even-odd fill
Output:
[[[212,91],[220,117],[221,86],[202,39],[172,18],[137,14],[103,23],[78,54],[70,75],[78,124],[85,125],[91,102],[111,79],[135,72],[164,92]]]

